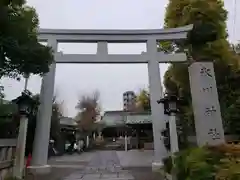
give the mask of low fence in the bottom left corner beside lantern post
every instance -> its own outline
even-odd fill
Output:
[[[0,180],[12,176],[16,145],[16,139],[0,139]]]

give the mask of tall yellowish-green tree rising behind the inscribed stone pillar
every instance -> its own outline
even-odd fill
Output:
[[[227,41],[226,19],[227,11],[222,0],[170,0],[166,9],[165,27],[195,25],[187,41],[174,44],[178,51],[188,48],[193,61],[214,62],[222,116],[224,123],[229,124],[227,122],[231,119],[228,118],[228,108],[240,95],[240,87],[234,82],[239,82],[240,77],[239,56],[230,50],[231,46]],[[164,84],[167,91],[184,97],[186,105],[182,107],[182,119],[193,121],[188,64],[170,65],[164,76]],[[240,114],[238,115],[240,118]]]

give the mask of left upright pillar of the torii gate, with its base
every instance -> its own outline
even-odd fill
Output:
[[[55,38],[47,40],[48,46],[57,52],[57,41]],[[33,142],[33,155],[31,166],[28,168],[32,173],[46,174],[51,171],[48,165],[48,146],[50,140],[52,103],[54,94],[56,63],[49,67],[49,72],[42,78],[40,106],[37,114],[37,124]]]

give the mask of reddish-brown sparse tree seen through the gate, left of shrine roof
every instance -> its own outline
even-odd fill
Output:
[[[100,115],[100,94],[98,91],[90,95],[82,95],[77,103],[76,109],[79,111],[76,116],[76,121],[79,127],[84,132],[89,132],[94,127],[94,122]]]

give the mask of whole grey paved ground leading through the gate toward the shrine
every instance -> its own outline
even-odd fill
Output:
[[[95,151],[49,160],[51,174],[25,180],[163,180],[152,173],[153,152]]]

